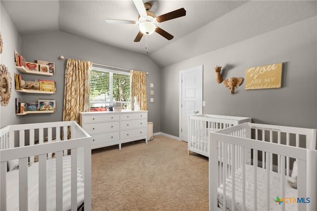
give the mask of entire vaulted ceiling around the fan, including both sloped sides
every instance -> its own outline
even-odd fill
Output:
[[[154,33],[133,42],[137,25],[106,23],[106,18],[137,20],[132,0],[1,0],[21,36],[59,30],[141,54],[147,44],[149,57],[161,67],[317,15],[316,1],[151,2],[156,16],[185,8],[186,16],[159,23],[172,40]]]

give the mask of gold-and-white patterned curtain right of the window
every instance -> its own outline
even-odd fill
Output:
[[[140,109],[147,111],[147,86],[145,72],[131,70],[131,108],[134,110],[134,97],[137,98]]]

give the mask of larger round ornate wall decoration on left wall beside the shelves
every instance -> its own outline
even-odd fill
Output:
[[[0,64],[0,96],[1,105],[7,106],[11,96],[11,76],[8,68]]]

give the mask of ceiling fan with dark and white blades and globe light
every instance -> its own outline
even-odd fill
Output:
[[[177,10],[174,10],[174,11],[171,11],[156,17],[155,14],[150,11],[152,7],[151,2],[146,2],[144,4],[142,0],[133,0],[133,2],[139,12],[139,19],[137,21],[106,19],[106,22],[107,23],[138,24],[140,32],[134,39],[134,42],[140,42],[143,35],[151,35],[154,32],[163,36],[167,40],[173,39],[174,36],[172,36],[168,32],[159,28],[157,24],[163,21],[179,18],[186,15],[186,10],[184,8],[180,8],[180,9],[177,9]]]

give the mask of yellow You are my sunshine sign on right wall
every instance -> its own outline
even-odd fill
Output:
[[[245,89],[280,88],[282,64],[270,64],[246,69]]]

